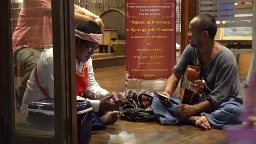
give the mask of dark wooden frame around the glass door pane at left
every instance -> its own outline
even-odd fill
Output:
[[[55,136],[14,131],[14,69],[10,1],[0,1],[0,143],[77,143],[75,95],[74,1],[52,0]]]

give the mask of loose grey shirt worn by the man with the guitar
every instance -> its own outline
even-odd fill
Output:
[[[201,67],[200,79],[205,80],[203,93],[213,109],[228,100],[243,103],[243,89],[238,78],[238,66],[233,53],[228,48],[222,46],[217,56],[202,67],[200,49],[188,45],[172,71],[184,73],[189,64]]]

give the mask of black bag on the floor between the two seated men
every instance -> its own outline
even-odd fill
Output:
[[[150,106],[153,100],[152,92],[143,89],[129,89],[125,92],[125,96],[129,101],[119,107],[121,119],[131,122],[154,122],[156,120]],[[145,101],[142,101],[142,97],[147,99],[146,106],[143,105]]]

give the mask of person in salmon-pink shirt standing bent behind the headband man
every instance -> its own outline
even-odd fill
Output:
[[[26,83],[45,47],[53,43],[51,0],[23,0],[18,23],[13,32],[13,59],[22,78],[15,86],[16,109],[20,110]],[[79,19],[95,21],[104,31],[101,18],[74,4],[74,24]],[[23,73],[25,74],[23,76]]]

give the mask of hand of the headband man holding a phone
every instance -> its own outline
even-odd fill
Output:
[[[113,111],[117,110],[120,105],[123,103],[120,101],[118,103],[112,103],[110,99],[114,97],[113,93],[108,93],[104,98],[100,100],[100,107],[98,108],[98,111]]]

